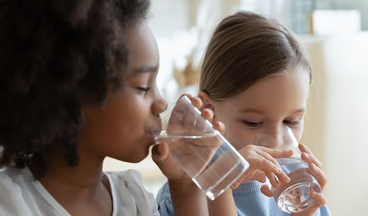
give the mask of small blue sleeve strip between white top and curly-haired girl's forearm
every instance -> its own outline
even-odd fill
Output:
[[[159,205],[161,216],[174,216],[173,203],[171,202],[170,189],[168,183],[164,183],[156,195],[156,202]]]

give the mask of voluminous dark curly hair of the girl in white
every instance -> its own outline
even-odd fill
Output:
[[[0,166],[47,172],[47,154],[79,163],[81,104],[124,84],[124,30],[149,0],[0,0]],[[0,152],[1,153],[1,152]]]

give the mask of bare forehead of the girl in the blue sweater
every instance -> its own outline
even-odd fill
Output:
[[[280,113],[305,108],[308,91],[309,74],[304,69],[295,69],[266,76],[229,101],[238,109]]]

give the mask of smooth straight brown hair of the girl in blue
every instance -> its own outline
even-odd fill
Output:
[[[214,100],[236,96],[256,81],[311,64],[287,28],[252,12],[228,16],[214,30],[200,74],[200,91]]]

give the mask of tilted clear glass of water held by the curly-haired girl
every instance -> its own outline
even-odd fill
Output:
[[[161,115],[163,130],[154,134],[157,143],[168,143],[176,159],[192,181],[214,200],[249,167],[248,162],[201,116],[187,96]]]

